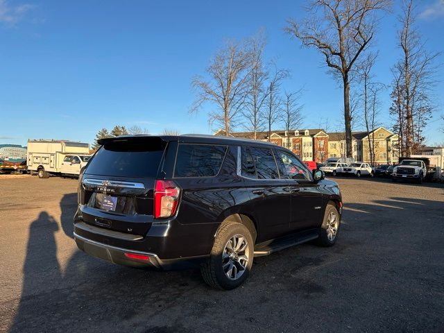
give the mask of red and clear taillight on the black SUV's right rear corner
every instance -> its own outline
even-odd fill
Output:
[[[154,218],[176,214],[180,188],[172,180],[156,180],[154,187]]]

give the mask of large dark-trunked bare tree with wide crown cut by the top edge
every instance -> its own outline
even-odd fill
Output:
[[[327,67],[343,86],[347,157],[352,157],[350,81],[355,62],[373,39],[376,13],[391,6],[391,0],[311,0],[302,24],[289,20],[287,33],[303,46],[315,47],[325,56]]]

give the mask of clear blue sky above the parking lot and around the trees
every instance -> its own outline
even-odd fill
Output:
[[[323,58],[301,49],[283,28],[303,17],[302,1],[14,1],[0,0],[0,144],[29,138],[92,143],[100,128],[138,124],[150,133],[212,133],[207,105],[188,113],[195,95],[191,78],[204,74],[225,38],[264,28],[266,58],[291,70],[284,88],[303,87],[305,127],[342,116],[341,88]],[[375,75],[391,82],[397,60],[395,14],[382,19],[375,39]],[[444,51],[443,0],[418,1],[418,28],[430,50]],[[443,57],[440,62],[443,62]],[[444,68],[436,72],[437,110],[425,130],[427,142],[444,142]],[[380,121],[387,127],[388,94]],[[358,128],[357,128],[358,129]]]

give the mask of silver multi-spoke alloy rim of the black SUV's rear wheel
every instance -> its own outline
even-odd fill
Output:
[[[248,265],[249,246],[246,238],[235,234],[225,244],[222,254],[222,269],[230,280],[239,279]]]

